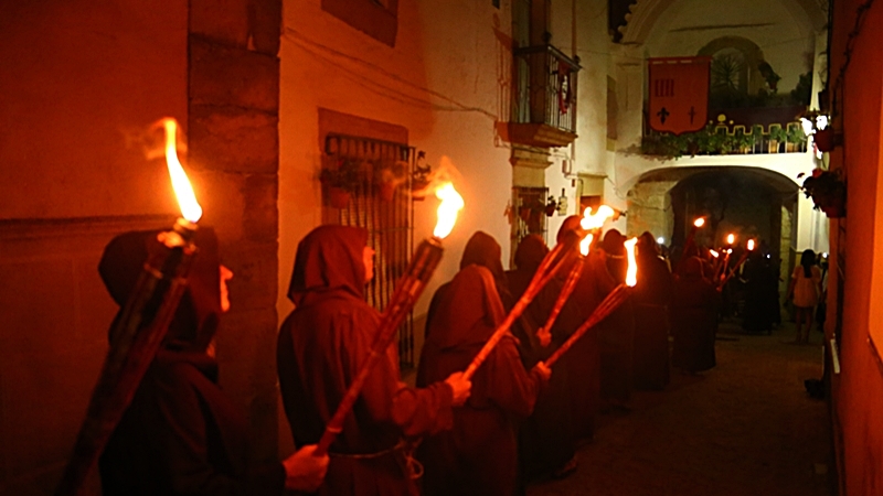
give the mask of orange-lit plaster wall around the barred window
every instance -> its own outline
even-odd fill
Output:
[[[408,144],[437,169],[448,157],[461,174],[466,208],[447,254],[415,313],[459,266],[476,229],[509,251],[503,216],[510,198],[510,149],[496,134],[509,118],[511,2],[425,1],[398,4],[395,46],[322,11],[319,0],[287,2],[280,51],[279,319],[298,241],[321,222],[317,181],[323,144],[319,108],[404,128]],[[428,236],[437,201],[415,206],[415,239]]]

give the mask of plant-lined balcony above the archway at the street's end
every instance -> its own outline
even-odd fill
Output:
[[[807,138],[796,116],[805,107],[709,110],[702,131],[673,136],[651,129],[645,119],[641,152],[646,155],[731,155],[805,153]]]

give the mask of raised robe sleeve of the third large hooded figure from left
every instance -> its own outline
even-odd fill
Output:
[[[524,370],[514,337],[507,335],[500,339],[482,367],[488,400],[515,417],[530,416],[542,379]]]

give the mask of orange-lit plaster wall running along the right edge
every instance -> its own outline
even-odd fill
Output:
[[[843,52],[863,2],[836,3],[831,53],[831,84],[843,65]],[[877,47],[883,32],[883,6],[874,4],[854,43],[852,61],[843,79],[842,129],[844,143],[832,154],[832,168],[844,168],[849,217],[832,225],[831,239],[845,267],[838,267],[840,255],[831,257],[831,284],[844,270],[843,323],[840,346],[841,374],[832,377],[834,432],[839,441],[841,494],[875,495],[883,492],[883,177],[879,173],[883,132],[883,67],[877,64]],[[837,226],[837,228],[834,228]],[[841,228],[844,233],[841,234]],[[833,337],[838,301],[837,285],[829,285],[826,336]]]

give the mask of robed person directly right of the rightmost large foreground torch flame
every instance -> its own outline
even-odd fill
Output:
[[[638,238],[635,304],[635,387],[662,390],[669,384],[669,302],[673,279],[650,233]]]

